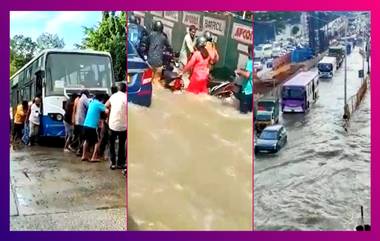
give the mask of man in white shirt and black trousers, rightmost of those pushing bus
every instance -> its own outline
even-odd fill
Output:
[[[111,169],[126,168],[127,139],[127,85],[119,84],[119,91],[113,94],[106,103],[109,110],[108,125],[110,128],[110,159]],[[116,160],[115,141],[119,138],[119,151]]]

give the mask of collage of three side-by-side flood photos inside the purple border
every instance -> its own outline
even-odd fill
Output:
[[[370,229],[370,12],[11,11],[11,231]]]

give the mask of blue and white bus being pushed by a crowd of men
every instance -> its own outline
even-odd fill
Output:
[[[73,93],[111,94],[111,55],[89,50],[44,50],[11,77],[11,105],[41,97],[40,136],[64,137],[64,107]]]

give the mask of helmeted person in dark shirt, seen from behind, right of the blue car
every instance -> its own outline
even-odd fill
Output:
[[[167,37],[163,34],[164,25],[161,21],[153,23],[153,31],[150,33],[147,41],[148,46],[148,63],[152,66],[152,82],[156,86],[163,86],[161,80],[164,51],[170,49]]]

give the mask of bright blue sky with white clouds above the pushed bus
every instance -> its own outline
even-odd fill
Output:
[[[81,43],[83,27],[94,27],[102,19],[102,12],[79,11],[12,11],[10,12],[10,37],[22,34],[34,41],[42,33],[57,34],[63,38],[65,49]]]

